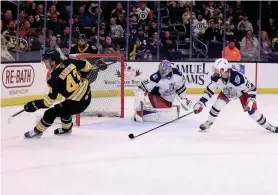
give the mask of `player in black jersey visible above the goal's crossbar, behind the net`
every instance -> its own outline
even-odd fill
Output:
[[[81,34],[78,37],[78,43],[73,46],[70,50],[70,54],[80,54],[80,53],[89,53],[89,54],[97,54],[98,48],[94,44],[88,44],[85,41],[85,35]]]

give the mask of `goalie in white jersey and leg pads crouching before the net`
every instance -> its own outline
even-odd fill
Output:
[[[179,97],[176,97],[176,96]],[[148,97],[150,104],[145,102]],[[177,68],[173,68],[168,60],[163,60],[158,71],[143,80],[135,94],[134,120],[165,122],[178,118],[179,106],[173,102],[179,98],[181,107],[188,110],[192,102],[186,97],[184,76]]]

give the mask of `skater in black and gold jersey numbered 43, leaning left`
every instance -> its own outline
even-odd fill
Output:
[[[60,117],[62,127],[56,129],[54,134],[71,133],[72,115],[83,112],[91,102],[89,81],[82,78],[80,74],[94,68],[91,63],[86,60],[62,60],[56,50],[45,51],[42,61],[48,70],[52,69],[47,81],[49,93],[43,99],[28,102],[24,105],[24,109],[26,112],[35,112],[41,108],[48,109],[34,129],[24,134],[26,138],[41,136],[56,117]],[[66,100],[51,107],[58,94]]]

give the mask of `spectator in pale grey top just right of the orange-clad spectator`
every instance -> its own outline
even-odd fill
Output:
[[[242,61],[258,60],[258,50],[250,39],[246,39],[243,47],[240,47],[240,53],[242,56]]]

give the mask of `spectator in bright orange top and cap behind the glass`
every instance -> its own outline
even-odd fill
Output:
[[[229,41],[228,45],[222,51],[222,57],[226,58],[228,61],[239,62],[241,60],[240,51],[235,47],[235,40]]]

